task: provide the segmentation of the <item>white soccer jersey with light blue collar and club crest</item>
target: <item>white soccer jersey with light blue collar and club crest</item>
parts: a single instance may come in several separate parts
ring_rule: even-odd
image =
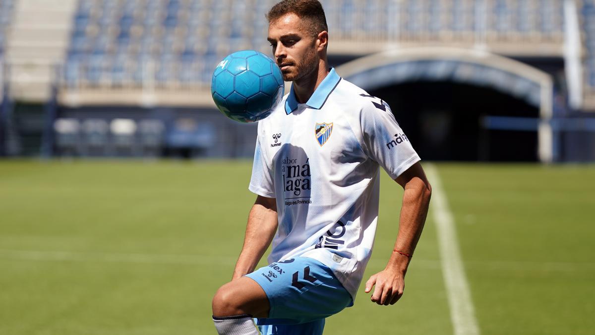
[[[249,186],[277,199],[268,262],[320,260],[355,300],[374,246],[378,166],[394,179],[418,161],[389,106],[334,69],[305,104],[292,87],[258,124]]]

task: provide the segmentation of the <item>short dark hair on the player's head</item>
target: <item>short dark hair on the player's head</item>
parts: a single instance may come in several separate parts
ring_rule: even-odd
[[[267,20],[271,23],[289,13],[311,21],[309,30],[314,36],[320,32],[328,31],[327,17],[318,0],[283,0],[268,11]]]

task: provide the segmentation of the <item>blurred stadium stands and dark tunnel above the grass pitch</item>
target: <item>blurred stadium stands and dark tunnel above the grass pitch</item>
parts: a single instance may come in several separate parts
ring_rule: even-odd
[[[214,67],[274,1],[1,0],[0,155],[250,157]],[[324,0],[337,71],[428,160],[595,160],[591,0]]]

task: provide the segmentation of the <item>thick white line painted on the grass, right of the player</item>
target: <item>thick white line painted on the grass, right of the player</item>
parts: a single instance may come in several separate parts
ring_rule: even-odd
[[[432,185],[431,212],[436,222],[442,274],[455,335],[479,335],[469,284],[456,238],[455,221],[442,190],[440,176],[433,165],[425,165]]]

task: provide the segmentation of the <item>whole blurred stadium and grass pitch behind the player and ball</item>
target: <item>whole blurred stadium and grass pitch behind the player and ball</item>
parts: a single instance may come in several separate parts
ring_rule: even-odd
[[[256,125],[209,86],[271,54],[274,2],[0,0],[0,334],[215,332]],[[595,1],[321,2],[331,66],[390,104],[434,189],[403,298],[360,291],[325,334],[593,334]],[[364,280],[398,231],[381,178]]]

